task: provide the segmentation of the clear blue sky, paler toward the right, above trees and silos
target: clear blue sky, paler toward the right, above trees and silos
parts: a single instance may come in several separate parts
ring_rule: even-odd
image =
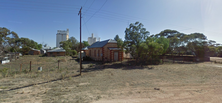
[[[0,27],[19,37],[56,46],[57,30],[82,40],[93,33],[102,40],[124,40],[130,23],[139,21],[150,34],[165,29],[203,33],[222,43],[222,0],[0,0]]]

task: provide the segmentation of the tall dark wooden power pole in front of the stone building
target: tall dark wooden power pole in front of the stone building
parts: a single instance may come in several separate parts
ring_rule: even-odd
[[[80,10],[79,10],[79,13],[78,13],[78,15],[80,15],[80,57],[79,57],[79,64],[80,64],[80,75],[82,74],[82,52],[81,52],[81,49],[82,49],[82,42],[81,42],[81,19],[82,19],[82,17],[81,17],[81,15],[82,15],[82,13],[81,13],[81,10],[82,10],[82,7],[80,8]]]

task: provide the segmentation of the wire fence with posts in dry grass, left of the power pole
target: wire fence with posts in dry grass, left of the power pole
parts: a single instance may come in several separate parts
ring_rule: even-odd
[[[19,77],[37,77],[42,76],[60,78],[68,75],[78,74],[79,64],[75,60],[59,58],[46,58],[49,60],[36,59],[31,61],[17,60],[0,66],[0,77],[12,77],[16,74]],[[57,59],[57,60],[55,60]],[[48,79],[48,78],[46,78]]]

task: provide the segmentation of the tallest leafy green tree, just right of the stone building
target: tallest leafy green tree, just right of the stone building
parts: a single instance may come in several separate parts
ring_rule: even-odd
[[[125,30],[126,51],[138,59],[140,52],[136,52],[136,50],[138,50],[139,45],[148,38],[149,34],[149,31],[143,28],[142,23],[131,23],[129,28]]]

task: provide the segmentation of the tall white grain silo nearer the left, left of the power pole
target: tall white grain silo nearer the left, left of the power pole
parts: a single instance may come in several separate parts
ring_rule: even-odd
[[[56,34],[56,47],[60,47],[61,41],[66,41],[69,39],[69,29],[67,30],[57,30]]]

